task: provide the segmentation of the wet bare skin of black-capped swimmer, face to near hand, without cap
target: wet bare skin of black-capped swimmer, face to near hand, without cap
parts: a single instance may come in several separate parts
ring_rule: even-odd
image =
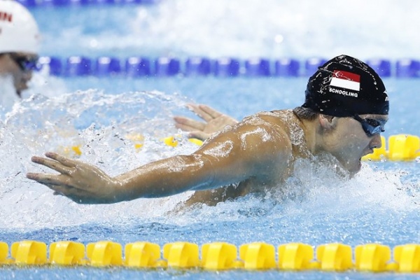
[[[290,176],[297,158],[318,153],[330,153],[354,174],[360,169],[360,158],[379,146],[379,134],[367,137],[353,118],[319,115],[314,120],[300,120],[292,111],[284,110],[245,118],[212,136],[191,155],[151,162],[116,177],[78,160],[46,153],[46,158],[35,156],[31,160],[59,174],[28,173],[27,178],[77,203],[114,203],[197,190],[187,203],[214,204],[221,195],[226,199],[258,192],[262,187],[278,187]],[[221,189],[233,183],[239,186]]]

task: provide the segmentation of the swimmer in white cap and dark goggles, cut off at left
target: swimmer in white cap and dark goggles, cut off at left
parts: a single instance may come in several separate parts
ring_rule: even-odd
[[[0,76],[12,78],[18,97],[36,69],[39,37],[27,8],[18,1],[0,0]]]

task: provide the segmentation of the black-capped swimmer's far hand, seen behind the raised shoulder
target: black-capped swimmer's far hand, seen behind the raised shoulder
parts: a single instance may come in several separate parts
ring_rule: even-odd
[[[186,117],[175,116],[175,126],[186,132],[190,132],[190,137],[205,140],[223,130],[227,125],[238,123],[235,118],[220,113],[207,105],[188,104],[188,109],[197,114],[204,120],[204,123]]]

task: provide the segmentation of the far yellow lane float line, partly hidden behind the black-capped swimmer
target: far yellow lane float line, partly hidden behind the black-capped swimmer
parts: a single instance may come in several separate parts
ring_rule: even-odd
[[[127,139],[134,143],[136,151],[144,146],[144,136],[141,134],[130,134],[127,135]],[[179,144],[179,137],[166,137],[160,139],[167,146],[176,147]],[[199,139],[190,138],[188,139],[193,144],[201,146],[203,141]],[[382,146],[381,148],[375,148],[373,153],[365,155],[362,160],[391,160],[391,161],[409,161],[415,160],[420,157],[420,138],[414,135],[398,134],[392,135],[388,138],[388,150],[386,149],[386,139],[381,136]],[[64,155],[73,156],[75,158],[82,155],[82,149],[80,145],[68,146],[59,148]]]

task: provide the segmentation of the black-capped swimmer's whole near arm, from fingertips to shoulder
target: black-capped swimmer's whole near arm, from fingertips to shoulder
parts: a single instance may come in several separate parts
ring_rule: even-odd
[[[186,190],[219,188],[251,177],[264,180],[279,172],[291,151],[290,145],[281,144],[284,137],[269,130],[272,128],[262,125],[240,125],[191,155],[151,162],[116,177],[78,160],[46,153],[46,158],[31,160],[59,174],[28,173],[27,178],[83,204],[165,197]]]

